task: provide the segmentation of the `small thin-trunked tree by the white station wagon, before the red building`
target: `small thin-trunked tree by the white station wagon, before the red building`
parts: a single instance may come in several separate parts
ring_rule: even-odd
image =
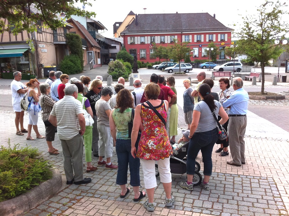
[[[178,42],[175,40],[173,45],[169,45],[168,49],[170,51],[170,57],[181,64],[181,60],[185,59],[187,55],[191,56],[191,49],[188,47],[189,42]],[[179,67],[179,72],[181,72],[181,67]]]

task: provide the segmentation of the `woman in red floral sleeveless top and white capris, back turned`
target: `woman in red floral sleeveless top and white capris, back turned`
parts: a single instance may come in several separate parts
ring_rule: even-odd
[[[159,100],[160,86],[149,83],[144,88],[145,98],[156,109],[160,115],[166,119],[166,109],[168,101]],[[136,142],[138,130],[142,124],[142,134],[138,144],[136,154]],[[172,176],[170,169],[170,156],[173,154],[168,134],[162,120],[150,108],[147,102],[136,106],[134,126],[131,133],[131,154],[133,157],[140,158],[144,175],[144,186],[147,190],[148,200],[144,202],[144,207],[148,211],[154,211],[153,195],[157,186],[155,178],[155,160],[158,163],[160,181],[166,193],[166,206],[172,206],[175,198],[171,195]]]

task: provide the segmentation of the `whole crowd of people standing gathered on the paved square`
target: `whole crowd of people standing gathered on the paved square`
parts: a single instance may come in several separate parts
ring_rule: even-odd
[[[180,186],[193,190],[192,179],[195,171],[195,159],[201,150],[204,163],[204,179],[201,183],[209,190],[209,178],[212,174],[212,149],[215,143],[221,144],[216,151],[220,156],[228,155],[230,143],[233,160],[229,165],[245,164],[244,133],[247,125],[248,94],[242,88],[241,78],[234,78],[234,93],[228,90],[229,80],[221,78],[219,94],[211,92],[214,85],[212,79],[206,79],[205,72],[197,75],[199,83],[192,89],[190,80],[184,80],[184,117],[188,129],[183,133],[189,141],[187,153],[187,181]],[[126,197],[130,192],[127,187],[128,167],[130,170],[130,185],[134,191],[134,201],[139,201],[146,195],[144,207],[154,211],[154,189],[157,186],[155,178],[155,161],[158,163],[160,180],[166,193],[166,206],[172,206],[175,198],[171,194],[170,156],[173,154],[171,143],[175,143],[178,123],[177,91],[175,78],[152,74],[150,83],[142,88],[141,80],[134,80],[134,91],[124,87],[124,79],[120,77],[114,92],[110,87],[102,86],[102,77],[90,82],[90,77],[81,76],[80,80],[61,71],[51,71],[45,83],[32,79],[28,88],[20,82],[21,73],[14,73],[11,83],[13,110],[16,113],[16,134],[28,132],[31,136],[32,127],[36,138],[46,138],[48,152],[59,154],[52,145],[55,131],[61,141],[64,171],[67,184],[86,184],[91,178],[83,176],[83,145],[85,149],[86,172],[97,170],[92,166],[92,155],[98,157],[97,166],[105,169],[118,169],[116,184],[120,185],[120,197]],[[34,90],[38,89],[38,92]],[[23,127],[24,111],[20,100],[27,93],[30,105],[28,111],[28,130]],[[30,103],[31,104],[31,103]],[[230,108],[230,109],[229,109]],[[42,109],[42,120],[45,124],[45,136],[37,129],[38,112]],[[83,110],[92,117],[94,123],[87,126]],[[217,122],[212,114],[218,116],[218,121],[228,129],[229,139],[218,140]],[[229,115],[229,116],[228,116]],[[22,117],[22,119],[21,119]],[[230,117],[230,118],[229,118]],[[20,129],[19,129],[20,123]],[[131,124],[133,126],[131,126]],[[31,125],[31,126],[30,126]],[[129,131],[131,128],[131,132]],[[170,139],[171,138],[171,139]],[[118,165],[111,162],[115,146]],[[104,160],[106,158],[106,161]],[[140,164],[142,164],[143,180],[146,191],[140,191]],[[74,173],[74,175],[73,175]]]

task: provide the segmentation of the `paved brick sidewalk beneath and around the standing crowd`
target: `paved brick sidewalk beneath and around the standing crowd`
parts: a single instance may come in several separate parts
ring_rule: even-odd
[[[215,80],[216,81],[216,80]],[[179,135],[181,128],[186,128],[182,111],[182,94],[184,87],[177,81],[178,105],[179,105]],[[0,83],[1,84],[1,83]],[[216,83],[215,83],[216,84]],[[272,83],[271,83],[272,84]],[[126,83],[127,85],[127,83]],[[285,89],[285,88],[284,88]],[[285,90],[284,90],[285,91]],[[286,88],[288,91],[288,88]],[[0,92],[0,94],[3,94]],[[1,95],[2,97],[3,95]],[[34,209],[27,212],[26,216],[32,215],[288,215],[289,209],[289,132],[284,126],[278,127],[272,123],[276,121],[288,122],[289,100],[284,101],[250,101],[248,112],[248,124],[245,135],[246,142],[246,165],[233,167],[226,164],[231,156],[220,157],[214,151],[218,149],[215,145],[213,159],[213,174],[210,179],[210,191],[194,187],[194,191],[181,189],[179,182],[186,179],[186,174],[172,174],[172,193],[175,203],[172,207],[165,207],[165,193],[157,177],[158,186],[155,188],[155,202],[157,208],[153,213],[144,209],[142,203],[133,202],[133,192],[126,198],[120,198],[120,187],[115,185],[117,170],[105,170],[99,167],[97,171],[86,173],[84,176],[92,178],[92,182],[86,185],[67,186],[62,163],[62,149],[58,136],[55,136],[53,146],[59,149],[60,154],[51,156],[47,152],[45,140],[27,141],[25,136],[15,134],[14,117],[12,111],[0,111],[1,145],[8,146],[10,138],[12,145],[20,143],[20,146],[32,145],[43,151],[45,158],[60,170],[63,176],[63,187],[57,195],[43,202]],[[256,115],[254,106],[259,106],[259,115],[268,114],[264,118]],[[275,117],[272,107],[282,107],[280,113],[283,115]],[[253,112],[251,112],[253,111]],[[274,114],[272,114],[274,113]],[[271,115],[271,117],[270,117]],[[44,124],[39,114],[38,129],[40,134],[45,134]],[[269,119],[269,120],[268,120]],[[25,113],[24,124],[27,125],[28,116]],[[287,127],[287,126],[285,126]],[[32,135],[35,135],[32,132]],[[230,151],[230,150],[229,150]],[[97,158],[92,157],[92,165],[96,166]],[[83,161],[84,158],[83,158]],[[116,153],[112,162],[117,161]],[[197,157],[201,165],[203,163],[201,154]],[[141,186],[144,187],[142,169],[140,169]],[[144,190],[144,188],[140,188]]]

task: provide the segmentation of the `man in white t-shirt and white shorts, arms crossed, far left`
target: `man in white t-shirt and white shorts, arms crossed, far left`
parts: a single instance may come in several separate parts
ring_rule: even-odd
[[[12,91],[12,106],[13,111],[16,114],[15,117],[15,126],[16,126],[16,134],[23,136],[23,133],[27,133],[28,131],[23,127],[23,117],[24,117],[24,110],[21,109],[20,102],[21,99],[24,97],[24,94],[28,91],[28,88],[20,82],[22,78],[22,74],[19,71],[13,73],[14,80],[11,82],[11,91]],[[20,123],[20,130],[19,130],[19,123]]]

